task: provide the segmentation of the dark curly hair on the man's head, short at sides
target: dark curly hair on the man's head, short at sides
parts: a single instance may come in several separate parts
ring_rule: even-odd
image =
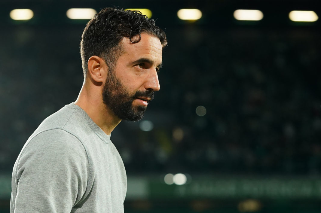
[[[122,38],[137,43],[143,32],[159,38],[163,48],[167,45],[165,32],[139,11],[104,8],[94,15],[86,25],[80,43],[84,77],[92,55],[103,58],[109,69],[114,70],[118,57],[123,53]]]

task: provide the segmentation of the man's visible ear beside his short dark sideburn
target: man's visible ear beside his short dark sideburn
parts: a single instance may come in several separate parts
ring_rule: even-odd
[[[88,59],[88,74],[91,76],[92,80],[96,82],[103,82],[106,80],[108,66],[105,61],[93,55]]]

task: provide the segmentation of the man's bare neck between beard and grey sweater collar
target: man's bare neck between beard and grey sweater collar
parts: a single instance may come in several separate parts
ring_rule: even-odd
[[[91,85],[84,81],[75,104],[81,107],[107,135],[110,135],[121,121],[103,103],[101,86]]]

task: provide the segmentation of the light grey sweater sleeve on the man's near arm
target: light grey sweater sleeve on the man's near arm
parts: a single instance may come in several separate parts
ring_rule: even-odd
[[[39,133],[16,165],[15,213],[71,212],[82,199],[89,174],[82,143],[61,129]]]

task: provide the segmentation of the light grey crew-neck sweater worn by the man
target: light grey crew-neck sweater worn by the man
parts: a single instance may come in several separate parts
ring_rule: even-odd
[[[10,212],[124,212],[126,189],[110,135],[71,103],[46,118],[22,148]]]

